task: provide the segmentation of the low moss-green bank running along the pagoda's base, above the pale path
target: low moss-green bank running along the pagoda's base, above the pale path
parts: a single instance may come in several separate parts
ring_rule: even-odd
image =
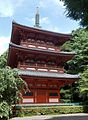
[[[83,106],[20,107],[19,109],[16,109],[17,116],[69,114],[83,112]]]

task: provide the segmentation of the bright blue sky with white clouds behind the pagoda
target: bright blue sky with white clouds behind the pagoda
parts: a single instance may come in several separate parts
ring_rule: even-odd
[[[60,0],[0,0],[0,55],[8,49],[12,21],[33,27],[36,7],[39,7],[40,26],[44,30],[71,33],[79,27],[77,21],[66,17]]]

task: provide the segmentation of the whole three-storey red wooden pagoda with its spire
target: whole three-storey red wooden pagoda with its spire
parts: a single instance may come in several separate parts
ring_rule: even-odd
[[[22,92],[21,104],[60,103],[60,88],[79,79],[64,72],[64,63],[75,53],[60,47],[70,38],[69,34],[40,29],[38,11],[35,27],[12,23],[7,64],[18,69],[29,88]]]

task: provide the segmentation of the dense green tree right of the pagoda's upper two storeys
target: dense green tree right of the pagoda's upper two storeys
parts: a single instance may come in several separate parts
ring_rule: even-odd
[[[76,52],[74,59],[67,62],[68,72],[83,73],[88,66],[88,31],[86,29],[73,31],[71,41],[66,42],[62,50]]]

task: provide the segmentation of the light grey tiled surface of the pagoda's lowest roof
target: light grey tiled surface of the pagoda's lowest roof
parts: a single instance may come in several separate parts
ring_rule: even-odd
[[[31,76],[31,77],[43,77],[43,78],[61,78],[61,79],[79,79],[79,75],[71,75],[66,73],[44,72],[44,71],[32,71],[32,70],[19,70],[19,75]]]

